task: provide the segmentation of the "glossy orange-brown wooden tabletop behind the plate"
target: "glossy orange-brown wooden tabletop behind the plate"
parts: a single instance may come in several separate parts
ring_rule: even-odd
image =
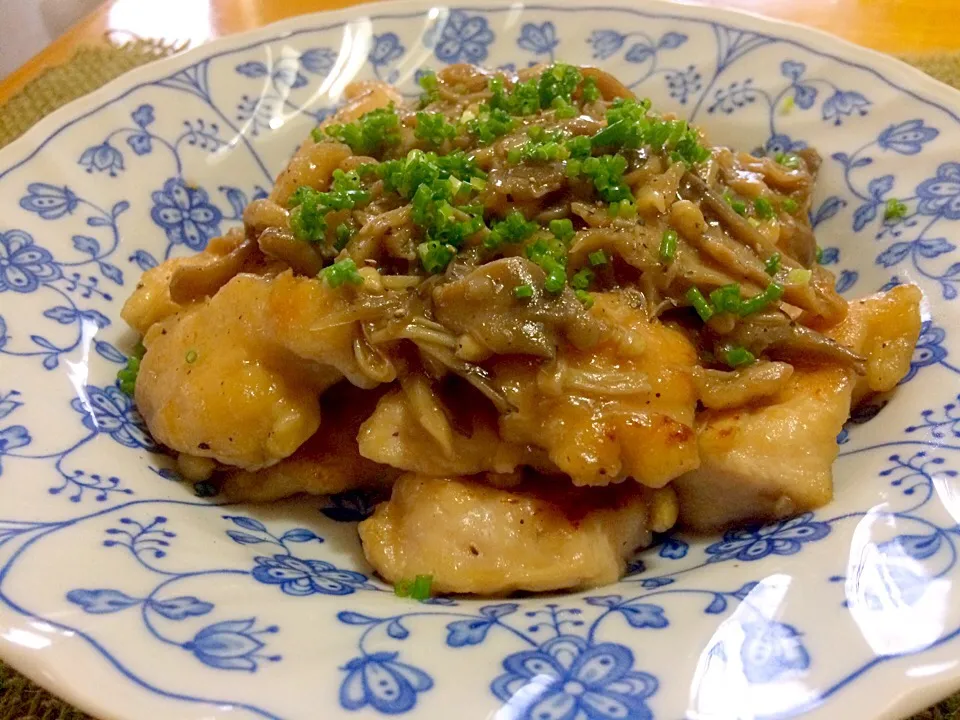
[[[199,45],[353,0],[108,0],[0,83],[0,102],[108,32]],[[960,51],[960,0],[704,0],[810,25],[888,53]]]

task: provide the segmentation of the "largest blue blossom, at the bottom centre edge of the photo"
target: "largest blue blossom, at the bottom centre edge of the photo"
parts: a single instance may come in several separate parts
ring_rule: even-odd
[[[517,720],[653,717],[646,699],[657,691],[657,680],[633,669],[633,653],[623,645],[590,645],[583,638],[560,635],[537,650],[511,655],[503,667],[507,672],[490,689],[504,702],[525,687],[536,688],[530,694],[535,699],[516,708],[512,717]]]

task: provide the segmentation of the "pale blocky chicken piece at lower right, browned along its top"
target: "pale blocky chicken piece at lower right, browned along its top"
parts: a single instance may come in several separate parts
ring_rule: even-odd
[[[841,368],[797,368],[767,404],[701,413],[700,467],[673,483],[681,523],[712,531],[829,502],[853,386]]]

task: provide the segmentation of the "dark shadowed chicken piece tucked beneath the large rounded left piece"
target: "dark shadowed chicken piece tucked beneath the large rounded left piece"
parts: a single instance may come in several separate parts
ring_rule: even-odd
[[[382,393],[340,383],[323,395],[323,423],[300,448],[276,465],[237,470],[224,477],[221,494],[236,502],[269,502],[308,493],[332,495],[357,488],[387,488],[400,471],[367,460],[357,448],[360,424]]]

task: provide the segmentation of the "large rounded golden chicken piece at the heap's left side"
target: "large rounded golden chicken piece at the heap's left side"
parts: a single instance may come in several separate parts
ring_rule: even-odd
[[[150,328],[136,401],[159,442],[258,469],[316,432],[319,393],[342,375],[309,367],[262,337],[272,283],[238,275],[213,298]]]

